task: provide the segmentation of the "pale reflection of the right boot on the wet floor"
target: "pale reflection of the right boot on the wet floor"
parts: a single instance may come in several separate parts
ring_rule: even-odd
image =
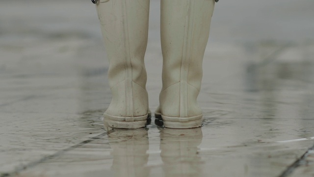
[[[161,159],[166,177],[199,177],[201,157],[198,146],[202,143],[202,129],[168,129],[160,131]]]

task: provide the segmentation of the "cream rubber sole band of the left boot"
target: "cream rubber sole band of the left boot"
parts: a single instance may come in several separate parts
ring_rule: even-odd
[[[135,129],[145,127],[150,124],[151,116],[147,114],[145,116],[138,117],[116,117],[108,114],[104,114],[105,127],[111,128],[126,128]]]

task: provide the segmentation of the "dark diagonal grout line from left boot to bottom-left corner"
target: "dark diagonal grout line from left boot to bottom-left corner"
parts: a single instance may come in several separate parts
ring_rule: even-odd
[[[47,160],[50,160],[50,159],[52,159],[54,157],[62,155],[65,152],[68,152],[68,151],[73,150],[75,148],[79,148],[79,147],[81,147],[81,146],[83,146],[85,144],[88,144],[88,143],[90,143],[90,142],[92,142],[94,140],[100,139],[101,137],[105,136],[106,134],[107,134],[107,132],[99,134],[97,136],[89,138],[88,140],[85,140],[85,141],[82,141],[82,142],[80,142],[80,143],[78,143],[76,145],[73,145],[73,146],[71,146],[69,148],[66,148],[66,149],[63,149],[63,150],[59,150],[59,151],[53,153],[52,155],[45,156],[45,157],[43,157],[43,158],[41,158],[39,160],[36,160],[36,161],[30,162],[30,163],[28,163],[26,165],[22,165],[20,167],[17,167],[16,170],[14,170],[13,172],[2,173],[2,174],[0,174],[0,177],[10,177],[10,176],[13,176],[13,175],[17,175],[17,174],[21,173],[22,171],[24,171],[26,169],[32,168],[32,167],[34,167],[34,166],[36,166],[36,165],[38,165],[40,163],[43,163],[43,162],[45,162]]]

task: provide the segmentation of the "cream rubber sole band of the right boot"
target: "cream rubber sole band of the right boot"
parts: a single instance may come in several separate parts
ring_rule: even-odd
[[[160,126],[160,120],[164,127],[167,128],[196,128],[201,127],[203,122],[203,115],[193,116],[189,118],[179,117],[167,117],[161,114],[155,113],[155,123]]]

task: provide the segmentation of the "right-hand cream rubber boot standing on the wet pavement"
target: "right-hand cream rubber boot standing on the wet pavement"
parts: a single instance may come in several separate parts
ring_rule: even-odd
[[[214,4],[214,0],[161,0],[162,90],[155,115],[165,127],[202,124],[196,99]]]

